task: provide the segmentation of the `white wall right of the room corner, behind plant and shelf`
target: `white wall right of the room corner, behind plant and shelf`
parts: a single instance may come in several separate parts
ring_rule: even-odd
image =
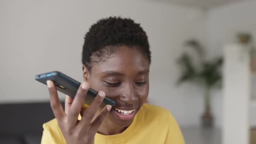
[[[251,31],[256,27],[256,1],[232,3],[208,11],[208,54],[209,58],[223,54],[223,45],[235,41],[239,31]],[[217,125],[222,125],[222,91],[213,92],[213,111]]]

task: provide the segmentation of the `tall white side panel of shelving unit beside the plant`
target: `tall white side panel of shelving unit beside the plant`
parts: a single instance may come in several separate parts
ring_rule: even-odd
[[[252,77],[245,49],[235,43],[224,47],[222,144],[249,144]]]

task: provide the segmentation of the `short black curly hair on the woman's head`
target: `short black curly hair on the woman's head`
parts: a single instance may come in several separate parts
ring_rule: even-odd
[[[140,24],[130,18],[108,17],[98,20],[85,34],[82,64],[90,71],[92,62],[107,59],[119,45],[138,46],[151,63],[148,36]],[[92,56],[97,56],[97,60]]]

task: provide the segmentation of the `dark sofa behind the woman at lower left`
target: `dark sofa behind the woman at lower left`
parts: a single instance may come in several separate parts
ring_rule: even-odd
[[[42,124],[53,118],[49,102],[0,104],[0,144],[40,144]]]

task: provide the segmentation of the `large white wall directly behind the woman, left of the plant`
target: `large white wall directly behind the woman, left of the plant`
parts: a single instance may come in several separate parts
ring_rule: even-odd
[[[190,38],[207,40],[202,11],[136,1],[0,1],[0,103],[48,101],[38,73],[59,70],[82,81],[81,52],[85,32],[107,16],[131,17],[148,33],[152,51],[149,102],[168,108],[181,125],[199,123],[202,92],[174,85],[175,60]]]

